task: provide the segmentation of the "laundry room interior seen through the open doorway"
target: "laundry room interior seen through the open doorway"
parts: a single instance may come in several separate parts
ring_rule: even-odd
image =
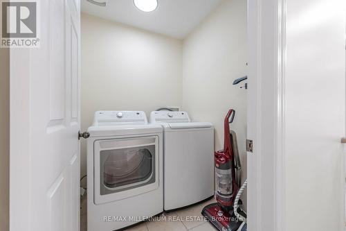
[[[81,10],[81,230],[222,230],[208,205],[225,199],[219,190],[233,207],[247,176],[247,1],[82,0]],[[215,176],[223,149],[232,160]],[[241,200],[246,216],[246,189]],[[237,219],[229,230],[246,230],[225,213]]]

